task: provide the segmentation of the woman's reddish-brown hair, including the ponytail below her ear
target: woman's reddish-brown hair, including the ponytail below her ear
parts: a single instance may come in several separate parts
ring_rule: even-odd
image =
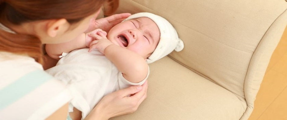
[[[0,0],[2,23],[21,25],[45,19],[66,19],[78,23],[92,15],[106,0]],[[0,51],[26,54],[42,63],[42,44],[33,35],[12,34],[0,30]]]

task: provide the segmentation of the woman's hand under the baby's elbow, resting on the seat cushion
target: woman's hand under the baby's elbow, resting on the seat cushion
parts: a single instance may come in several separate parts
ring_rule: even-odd
[[[106,95],[86,119],[108,120],[111,117],[133,113],[146,97],[147,81],[141,86],[131,86],[115,91]]]

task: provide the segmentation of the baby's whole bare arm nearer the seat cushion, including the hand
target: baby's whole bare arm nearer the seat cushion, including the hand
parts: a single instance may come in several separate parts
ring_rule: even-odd
[[[90,34],[95,38],[90,44],[90,49],[98,49],[115,64],[119,71],[123,73],[125,79],[138,83],[147,77],[148,64],[145,59],[137,53],[112,44],[101,32]]]

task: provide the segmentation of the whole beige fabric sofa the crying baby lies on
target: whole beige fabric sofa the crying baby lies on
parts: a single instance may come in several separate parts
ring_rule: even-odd
[[[111,120],[247,120],[286,8],[285,0],[120,0],[117,13],[169,20],[185,48],[150,64],[147,99]]]

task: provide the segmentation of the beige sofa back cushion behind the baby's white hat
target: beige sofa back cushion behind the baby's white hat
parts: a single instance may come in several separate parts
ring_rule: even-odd
[[[121,0],[117,13],[150,12],[169,20],[185,44],[169,57],[244,98],[253,52],[286,7],[284,0]]]

